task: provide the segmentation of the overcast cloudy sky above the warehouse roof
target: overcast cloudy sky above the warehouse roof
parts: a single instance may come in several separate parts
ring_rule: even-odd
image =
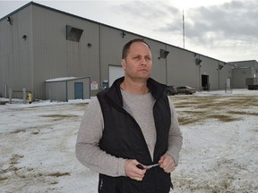
[[[0,18],[30,1],[0,1]],[[258,0],[34,1],[224,62],[258,61]]]

